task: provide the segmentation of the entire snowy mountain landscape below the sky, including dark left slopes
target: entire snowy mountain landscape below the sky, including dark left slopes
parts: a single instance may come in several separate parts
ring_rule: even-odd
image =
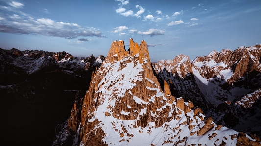
[[[151,63],[130,39],[106,58],[0,49],[0,64],[16,145],[261,146],[260,44]]]

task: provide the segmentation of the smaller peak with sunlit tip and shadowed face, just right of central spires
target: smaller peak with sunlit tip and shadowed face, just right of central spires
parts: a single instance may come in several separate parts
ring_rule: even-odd
[[[192,101],[196,106],[208,109],[210,103],[206,101],[196,84],[189,56],[180,54],[173,60],[161,60],[158,63],[153,63],[153,67],[161,86],[163,87],[162,84],[166,82],[172,95],[183,97],[186,101]]]

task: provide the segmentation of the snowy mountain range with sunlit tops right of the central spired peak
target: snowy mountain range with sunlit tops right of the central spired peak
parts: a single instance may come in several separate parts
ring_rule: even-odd
[[[160,81],[172,86],[173,95],[193,101],[215,123],[261,137],[260,58],[261,45],[256,45],[213,51],[191,62],[186,55],[178,55],[153,66]]]

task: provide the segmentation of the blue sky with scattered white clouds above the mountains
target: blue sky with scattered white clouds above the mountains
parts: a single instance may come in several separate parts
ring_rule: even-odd
[[[0,0],[0,48],[104,55],[115,40],[150,60],[261,44],[261,0]]]

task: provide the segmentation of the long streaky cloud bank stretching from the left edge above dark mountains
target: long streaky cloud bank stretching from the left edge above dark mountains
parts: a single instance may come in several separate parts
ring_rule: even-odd
[[[16,34],[33,34],[62,38],[77,38],[80,36],[103,37],[102,32],[93,27],[81,27],[76,23],[55,22],[48,18],[34,19],[19,15],[3,18],[0,32]]]

